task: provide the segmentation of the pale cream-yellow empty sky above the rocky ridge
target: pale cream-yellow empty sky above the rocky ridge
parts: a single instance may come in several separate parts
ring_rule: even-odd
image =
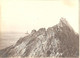
[[[79,33],[78,0],[2,0],[1,31],[31,32],[52,27],[66,18]]]

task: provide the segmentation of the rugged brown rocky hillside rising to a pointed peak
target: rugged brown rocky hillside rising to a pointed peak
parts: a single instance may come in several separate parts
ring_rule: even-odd
[[[49,27],[32,30],[31,34],[20,38],[15,45],[0,50],[1,57],[78,57],[79,35],[61,18]]]

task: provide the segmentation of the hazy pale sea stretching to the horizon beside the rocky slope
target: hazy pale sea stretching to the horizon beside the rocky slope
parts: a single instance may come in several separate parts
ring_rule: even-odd
[[[3,32],[0,34],[0,49],[15,44],[19,38],[26,36],[22,32]]]

